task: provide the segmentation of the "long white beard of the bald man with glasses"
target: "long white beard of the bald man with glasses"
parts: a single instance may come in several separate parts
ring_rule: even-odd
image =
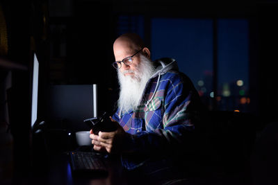
[[[142,93],[149,78],[154,73],[154,64],[144,55],[140,55],[141,62],[135,71],[126,70],[123,73],[117,71],[120,83],[120,98],[117,105],[122,112],[135,110],[139,105]],[[124,73],[134,73],[134,76],[124,76]]]

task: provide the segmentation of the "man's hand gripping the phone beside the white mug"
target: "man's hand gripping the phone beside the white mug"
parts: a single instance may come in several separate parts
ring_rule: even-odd
[[[117,124],[117,130],[114,132],[99,132],[99,135],[93,134],[92,130],[90,130],[90,138],[92,139],[94,150],[106,150],[108,153],[120,154],[122,152],[122,141],[126,132],[113,118],[111,118],[111,121]]]

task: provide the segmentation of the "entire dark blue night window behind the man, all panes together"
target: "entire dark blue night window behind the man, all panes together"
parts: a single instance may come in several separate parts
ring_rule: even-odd
[[[125,30],[143,38],[143,33],[147,33],[144,29],[150,28],[150,41],[147,42],[151,43],[152,60],[164,57],[177,60],[179,70],[193,81],[208,109],[249,111],[247,19],[216,19],[214,28],[213,19],[153,17],[148,20],[150,27],[144,27],[142,16],[119,17],[119,22],[123,20],[129,20],[129,24],[124,25],[130,25],[130,28]],[[126,32],[123,28],[118,28],[119,35]],[[213,43],[215,40],[217,43]],[[217,51],[217,58],[213,58],[213,49]],[[217,82],[215,92],[213,82]]]

